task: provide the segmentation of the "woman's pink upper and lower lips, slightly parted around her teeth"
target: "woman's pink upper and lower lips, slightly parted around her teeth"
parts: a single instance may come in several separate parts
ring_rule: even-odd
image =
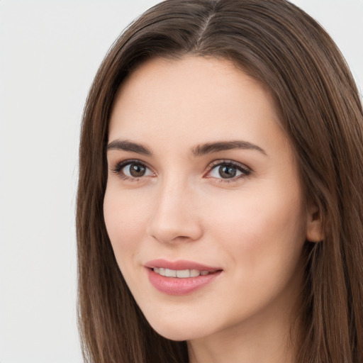
[[[211,284],[223,270],[218,267],[206,266],[197,262],[186,260],[167,261],[165,259],[154,259],[147,262],[145,265],[147,270],[147,277],[149,278],[152,286],[158,291],[167,295],[186,295],[194,291],[202,289],[203,287]],[[207,275],[199,275],[198,277],[187,277],[180,279],[178,277],[164,277],[155,273],[152,269],[154,267],[161,267],[164,269],[198,269],[199,271],[210,272]]]

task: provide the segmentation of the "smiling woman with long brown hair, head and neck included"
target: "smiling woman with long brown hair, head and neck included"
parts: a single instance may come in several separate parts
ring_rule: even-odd
[[[363,362],[363,123],[333,41],[283,0],[168,0],[84,110],[89,362]]]

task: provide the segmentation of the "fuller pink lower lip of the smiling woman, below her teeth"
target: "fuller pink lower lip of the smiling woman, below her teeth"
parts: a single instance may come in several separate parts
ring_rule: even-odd
[[[202,287],[211,284],[211,282],[220,275],[221,271],[213,272],[208,275],[199,275],[198,277],[164,277],[157,274],[152,269],[147,269],[149,281],[155,289],[168,295],[186,295]]]

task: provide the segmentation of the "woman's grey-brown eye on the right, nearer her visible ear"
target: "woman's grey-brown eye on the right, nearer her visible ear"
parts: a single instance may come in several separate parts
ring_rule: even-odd
[[[215,162],[208,169],[206,177],[220,179],[220,181],[235,181],[251,174],[251,170],[243,164],[231,160]]]

